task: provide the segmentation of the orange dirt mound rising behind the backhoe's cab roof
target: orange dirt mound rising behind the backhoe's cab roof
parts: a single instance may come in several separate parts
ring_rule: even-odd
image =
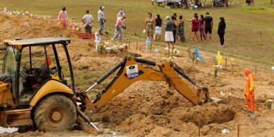
[[[0,42],[9,39],[34,38],[42,36],[63,36],[76,38],[69,30],[64,30],[55,24],[40,21],[38,18],[22,17],[21,15],[0,16],[1,37]]]

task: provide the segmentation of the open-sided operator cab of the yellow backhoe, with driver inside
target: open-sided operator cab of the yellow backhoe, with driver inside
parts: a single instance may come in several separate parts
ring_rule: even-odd
[[[2,75],[11,79],[12,98],[16,106],[29,105],[36,92],[49,80],[61,82],[75,90],[71,60],[67,49],[70,42],[69,38],[54,37],[5,40],[7,48]],[[67,58],[62,58],[60,62],[58,52],[66,53]],[[49,64],[49,58],[51,64]],[[41,69],[45,62],[47,62],[45,69]],[[62,66],[66,67],[62,68]],[[49,74],[51,69],[56,73]],[[66,74],[71,81],[67,82],[63,72],[70,72]]]

